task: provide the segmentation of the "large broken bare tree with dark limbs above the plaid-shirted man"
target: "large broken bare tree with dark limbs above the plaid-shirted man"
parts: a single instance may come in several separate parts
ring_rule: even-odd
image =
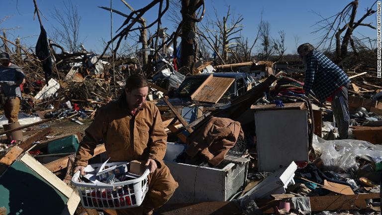
[[[368,7],[365,14],[358,21],[355,20],[358,0],[348,3],[340,12],[328,18],[324,18],[318,14],[322,17],[322,20],[316,22],[315,25],[318,26],[318,29],[313,31],[313,33],[323,32],[323,36],[317,47],[323,45],[327,51],[331,51],[333,42],[335,42],[336,61],[341,61],[347,56],[349,46],[354,54],[357,54],[353,36],[354,30],[358,26],[366,26],[376,29],[372,23],[363,23],[365,18],[376,12],[376,10],[373,9],[376,3],[377,1],[375,1],[370,8]]]

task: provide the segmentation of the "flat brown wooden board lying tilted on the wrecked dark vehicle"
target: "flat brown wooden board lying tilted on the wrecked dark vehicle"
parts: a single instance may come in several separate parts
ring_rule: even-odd
[[[216,104],[234,81],[234,78],[213,77],[210,75],[191,95],[191,100]]]

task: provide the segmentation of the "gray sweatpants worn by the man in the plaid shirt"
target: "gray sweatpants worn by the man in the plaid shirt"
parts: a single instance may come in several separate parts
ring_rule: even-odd
[[[336,119],[340,139],[347,139],[350,121],[348,86],[343,86],[341,91],[334,94],[332,109],[334,118]]]

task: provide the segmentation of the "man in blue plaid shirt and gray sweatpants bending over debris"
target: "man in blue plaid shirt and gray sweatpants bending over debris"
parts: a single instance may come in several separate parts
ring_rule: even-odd
[[[321,103],[325,101],[332,103],[339,139],[347,139],[350,121],[348,105],[350,79],[340,67],[315,50],[311,44],[300,45],[297,52],[303,65],[306,66],[303,86],[305,95],[313,91]]]

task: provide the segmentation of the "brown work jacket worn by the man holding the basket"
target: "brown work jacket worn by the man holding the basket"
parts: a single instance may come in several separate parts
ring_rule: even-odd
[[[76,154],[76,166],[87,166],[101,139],[110,161],[156,160],[158,167],[166,153],[167,134],[158,108],[145,102],[135,115],[123,97],[99,108]]]

